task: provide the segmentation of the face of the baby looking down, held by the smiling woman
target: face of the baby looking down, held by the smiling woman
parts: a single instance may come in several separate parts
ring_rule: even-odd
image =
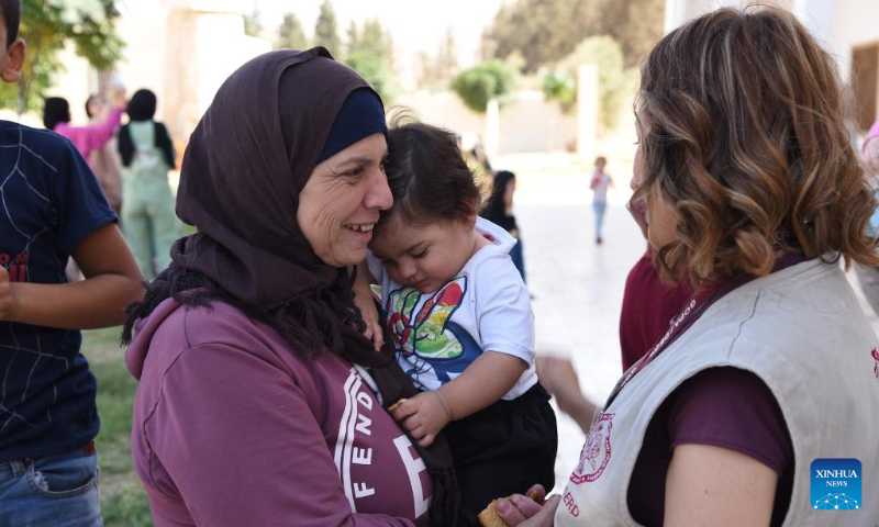
[[[455,278],[477,248],[474,225],[461,221],[408,223],[394,214],[382,220],[369,249],[390,277],[423,293]]]

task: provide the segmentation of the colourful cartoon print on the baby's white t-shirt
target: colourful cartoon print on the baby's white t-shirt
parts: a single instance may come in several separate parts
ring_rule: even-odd
[[[446,282],[435,293],[421,293],[403,287],[388,295],[385,306],[387,325],[397,352],[409,365],[407,374],[419,388],[436,378],[445,383],[449,373],[460,373],[482,352],[467,330],[452,322],[467,293],[467,277]],[[422,296],[431,298],[415,313]]]

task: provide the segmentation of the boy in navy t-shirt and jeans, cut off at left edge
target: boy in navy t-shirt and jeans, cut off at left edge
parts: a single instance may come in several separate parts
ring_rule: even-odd
[[[0,1],[0,78],[25,57]],[[143,293],[116,215],[70,141],[0,121],[0,525],[101,525],[97,382],[80,329],[120,324]],[[73,255],[86,279],[66,283]]]

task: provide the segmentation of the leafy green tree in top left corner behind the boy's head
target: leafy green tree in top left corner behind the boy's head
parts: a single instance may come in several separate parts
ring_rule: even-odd
[[[43,96],[64,70],[58,54],[68,42],[99,70],[112,68],[124,46],[115,32],[114,0],[22,0],[19,36],[27,43],[21,79],[2,83],[0,106],[40,111]]]

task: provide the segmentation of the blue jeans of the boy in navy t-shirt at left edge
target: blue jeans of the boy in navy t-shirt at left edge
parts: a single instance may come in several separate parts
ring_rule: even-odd
[[[0,527],[100,525],[93,445],[0,463]]]

